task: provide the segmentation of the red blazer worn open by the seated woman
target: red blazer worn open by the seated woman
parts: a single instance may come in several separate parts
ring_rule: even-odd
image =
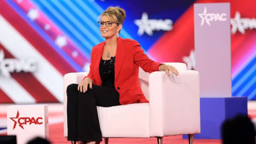
[[[104,50],[105,41],[94,46],[91,51],[91,65],[88,76],[94,85],[101,85],[99,63]],[[117,38],[115,56],[115,89],[120,94],[120,104],[148,103],[139,84],[139,67],[145,72],[159,71],[162,63],[155,62],[144,54],[140,44],[131,39]],[[85,79],[85,77],[83,78]]]

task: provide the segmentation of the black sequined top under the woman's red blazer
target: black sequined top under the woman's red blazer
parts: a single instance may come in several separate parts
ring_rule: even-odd
[[[101,76],[102,86],[115,88],[115,56],[111,56],[109,60],[104,60],[101,57],[99,74]]]

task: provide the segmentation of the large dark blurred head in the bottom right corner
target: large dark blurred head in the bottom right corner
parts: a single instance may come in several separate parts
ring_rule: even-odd
[[[221,126],[222,144],[255,144],[254,125],[247,115],[237,115]]]

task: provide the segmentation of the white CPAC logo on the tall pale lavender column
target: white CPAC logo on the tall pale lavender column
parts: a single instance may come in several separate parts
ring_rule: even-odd
[[[203,13],[198,13],[198,16],[202,19],[201,26],[203,26],[204,22],[211,26],[210,21],[226,21],[226,13],[207,13],[206,7],[203,10]]]

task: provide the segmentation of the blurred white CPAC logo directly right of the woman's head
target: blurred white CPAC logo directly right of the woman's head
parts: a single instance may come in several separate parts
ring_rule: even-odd
[[[173,21],[171,19],[148,19],[147,13],[142,13],[141,19],[136,19],[134,23],[139,27],[138,35],[143,35],[144,32],[148,35],[153,35],[153,31],[173,29]]]

